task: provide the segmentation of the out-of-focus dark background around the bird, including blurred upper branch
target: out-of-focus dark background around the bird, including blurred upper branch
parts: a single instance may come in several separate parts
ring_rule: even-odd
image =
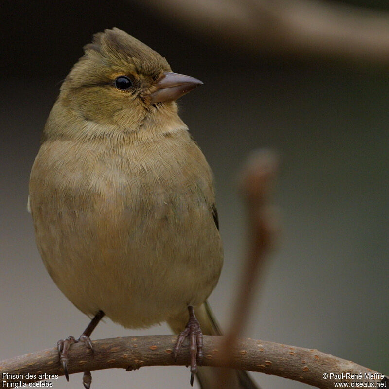
[[[316,348],[389,374],[388,1],[1,2],[0,360],[79,336],[26,211],[29,173],[61,81],[93,33],[119,27],[204,86],[181,117],[217,187],[225,265],[210,297],[226,327],[245,248],[236,190],[250,150],[282,156],[282,235],[245,336]],[[167,334],[101,323],[92,339]],[[189,388],[185,367],[92,372],[92,388]],[[253,373],[266,388],[307,388]],[[82,374],[54,382],[82,388]],[[195,384],[197,385],[197,384]]]

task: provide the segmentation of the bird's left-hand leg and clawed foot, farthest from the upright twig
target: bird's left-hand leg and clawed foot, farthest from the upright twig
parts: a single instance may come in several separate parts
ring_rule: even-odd
[[[69,336],[66,339],[58,340],[57,347],[58,347],[59,361],[61,362],[61,365],[64,369],[65,377],[67,381],[69,381],[68,352],[71,344],[83,342],[86,344],[88,349],[90,349],[93,352],[93,346],[89,336],[92,333],[92,331],[96,328],[98,322],[103,318],[104,315],[105,314],[103,311],[97,312],[95,317],[92,318],[92,320],[88,324],[88,327],[85,329],[85,331],[81,334],[81,336],[77,340],[74,338],[74,336]],[[89,389],[91,382],[92,382],[92,377],[90,375],[90,371],[85,371],[83,376],[84,387]]]

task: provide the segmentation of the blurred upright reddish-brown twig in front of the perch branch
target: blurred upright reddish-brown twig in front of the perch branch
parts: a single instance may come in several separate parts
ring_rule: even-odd
[[[234,347],[247,323],[254,291],[258,291],[258,278],[263,274],[267,253],[276,240],[278,223],[271,204],[271,195],[277,178],[278,164],[278,158],[273,151],[254,151],[248,156],[241,173],[240,191],[245,200],[248,219],[248,252],[221,355],[225,358],[226,365],[231,362],[230,349]],[[228,369],[220,371],[218,388],[227,387],[230,374],[232,371]]]

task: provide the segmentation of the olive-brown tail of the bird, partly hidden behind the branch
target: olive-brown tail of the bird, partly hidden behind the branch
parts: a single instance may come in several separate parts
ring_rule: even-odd
[[[198,319],[201,330],[204,335],[222,335],[220,326],[217,323],[208,301],[195,308],[196,318]],[[182,331],[188,322],[189,315],[179,315],[170,318],[167,323],[172,330],[178,334]],[[199,366],[197,372],[197,379],[200,383],[201,389],[216,389],[217,385],[217,368],[209,366]],[[236,374],[231,374],[231,382],[228,388],[223,389],[259,389],[246,371],[236,370]]]

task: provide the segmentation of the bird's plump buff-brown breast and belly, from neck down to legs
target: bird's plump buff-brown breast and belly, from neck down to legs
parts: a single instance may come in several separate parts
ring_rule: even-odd
[[[53,280],[83,312],[147,326],[202,303],[216,284],[212,174],[181,138],[42,144],[30,178],[36,240]],[[123,306],[132,313],[123,316]]]

